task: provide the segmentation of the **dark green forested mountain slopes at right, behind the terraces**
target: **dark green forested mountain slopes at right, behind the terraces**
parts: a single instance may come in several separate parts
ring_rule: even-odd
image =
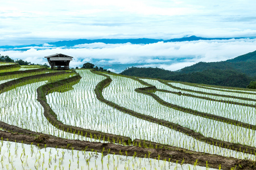
[[[256,79],[256,51],[221,62],[199,62],[179,71],[131,67],[121,74],[181,82],[246,87]]]

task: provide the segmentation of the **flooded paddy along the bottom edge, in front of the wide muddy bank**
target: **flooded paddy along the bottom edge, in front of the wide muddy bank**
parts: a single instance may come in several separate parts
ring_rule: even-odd
[[[39,148],[15,142],[0,142],[1,169],[208,169],[189,164],[137,158],[133,156],[102,155],[89,151],[62,148]],[[212,169],[212,168],[209,168]]]

